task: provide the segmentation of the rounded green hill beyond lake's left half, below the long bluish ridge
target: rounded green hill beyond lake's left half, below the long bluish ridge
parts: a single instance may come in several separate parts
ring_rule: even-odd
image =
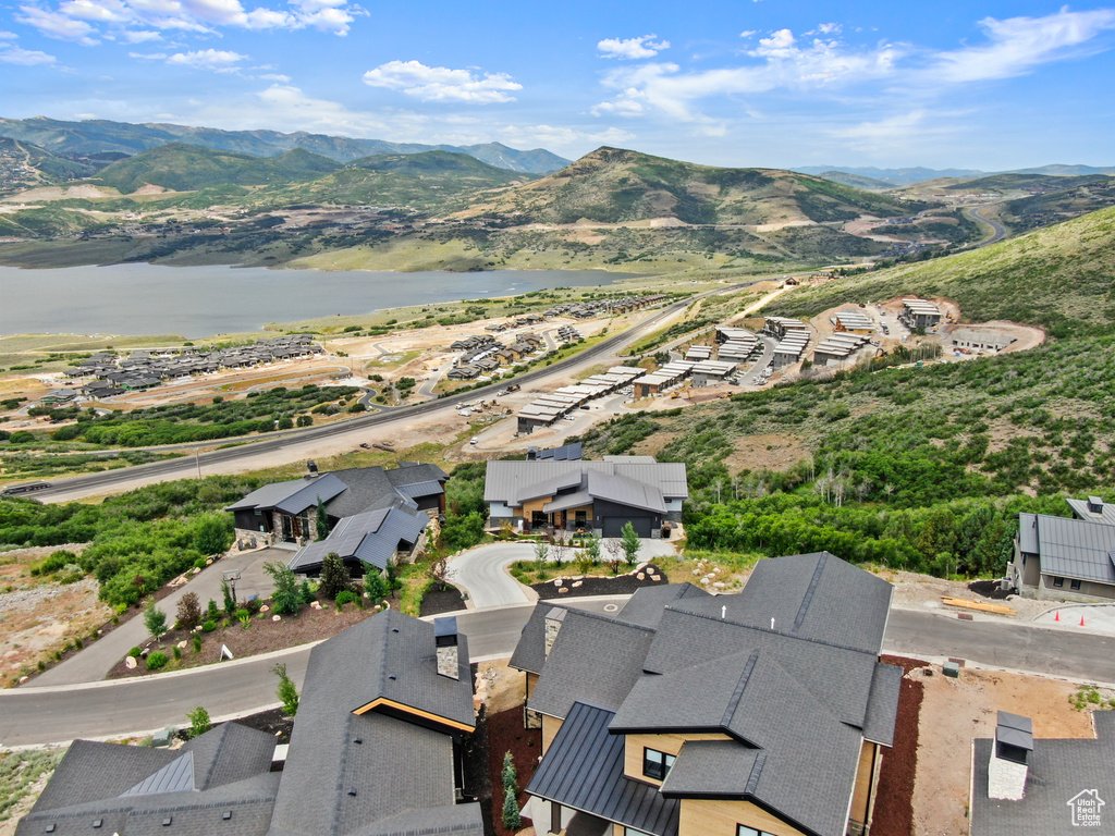
[[[254,186],[320,177],[341,165],[295,149],[274,157],[211,150],[173,143],[122,159],[90,182],[130,194],[145,185],[192,192],[221,185]]]

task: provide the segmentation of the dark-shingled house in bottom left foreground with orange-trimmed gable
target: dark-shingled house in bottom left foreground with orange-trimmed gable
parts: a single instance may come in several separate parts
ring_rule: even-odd
[[[389,610],[311,651],[281,771],[275,738],[235,722],[173,751],[78,740],[17,834],[483,836],[460,803],[474,729],[456,620]]]

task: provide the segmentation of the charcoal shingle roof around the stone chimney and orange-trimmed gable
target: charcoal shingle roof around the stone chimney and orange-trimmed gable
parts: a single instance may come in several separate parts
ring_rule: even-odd
[[[387,833],[367,828],[395,816],[406,833],[407,810],[453,805],[450,727],[474,723],[468,645],[459,636],[459,679],[440,677],[434,632],[388,610],[313,649],[272,836]],[[380,701],[390,704],[353,713]],[[407,709],[444,721],[416,725]],[[471,833],[475,810],[454,810],[448,818]]]

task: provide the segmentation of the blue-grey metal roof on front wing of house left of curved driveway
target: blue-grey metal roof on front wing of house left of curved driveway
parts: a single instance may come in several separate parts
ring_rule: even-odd
[[[378,568],[406,543],[413,546],[429,525],[429,516],[409,508],[377,508],[341,519],[329,536],[300,548],[289,565],[295,572],[317,572],[330,552],[343,560],[366,561]]]

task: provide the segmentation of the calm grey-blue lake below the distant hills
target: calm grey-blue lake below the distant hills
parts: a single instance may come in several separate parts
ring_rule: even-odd
[[[359,315],[456,299],[611,284],[599,270],[377,273],[156,264],[21,270],[0,266],[0,334],[258,331],[268,322]]]

